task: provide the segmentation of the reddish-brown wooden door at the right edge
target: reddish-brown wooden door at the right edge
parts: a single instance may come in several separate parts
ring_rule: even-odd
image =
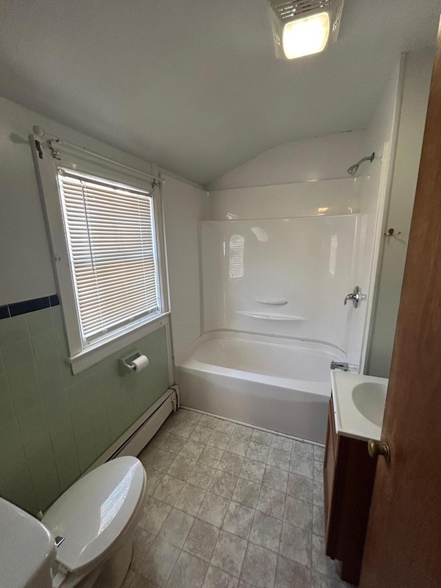
[[[441,587],[441,27],[361,588]]]

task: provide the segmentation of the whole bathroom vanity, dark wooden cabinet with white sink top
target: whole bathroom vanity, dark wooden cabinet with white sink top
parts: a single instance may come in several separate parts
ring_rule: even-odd
[[[331,374],[323,483],[327,556],[342,562],[342,580],[358,585],[376,460],[367,441],[380,440],[387,379]]]

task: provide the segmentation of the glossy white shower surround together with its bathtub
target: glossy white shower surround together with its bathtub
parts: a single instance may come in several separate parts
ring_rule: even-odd
[[[183,405],[323,443],[329,364],[348,361],[353,312],[365,314],[343,305],[360,277],[363,183],[210,194],[213,220],[200,223],[205,334],[176,357]]]

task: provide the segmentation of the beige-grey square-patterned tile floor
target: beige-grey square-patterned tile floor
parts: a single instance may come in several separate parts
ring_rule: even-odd
[[[349,586],[325,556],[321,447],[181,409],[139,458],[123,588]]]

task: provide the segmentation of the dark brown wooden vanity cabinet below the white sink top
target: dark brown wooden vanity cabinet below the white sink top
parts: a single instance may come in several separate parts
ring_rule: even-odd
[[[375,470],[366,441],[336,434],[331,398],[323,464],[326,554],[342,562],[342,580],[353,585],[360,580]]]

